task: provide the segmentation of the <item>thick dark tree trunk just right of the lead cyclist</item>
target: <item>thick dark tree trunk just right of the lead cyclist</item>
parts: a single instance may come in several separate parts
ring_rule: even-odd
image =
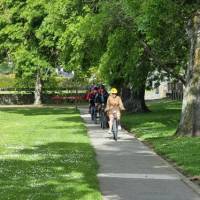
[[[124,106],[128,112],[149,112],[145,103],[145,85],[137,91],[123,87],[121,93]]]

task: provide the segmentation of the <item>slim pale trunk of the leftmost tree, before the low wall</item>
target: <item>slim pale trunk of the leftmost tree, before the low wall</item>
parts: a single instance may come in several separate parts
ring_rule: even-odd
[[[41,81],[41,77],[40,77],[40,73],[39,72],[37,72],[34,95],[35,95],[34,104],[35,105],[41,105],[41,103],[42,103],[42,101],[41,101],[41,96],[42,96],[42,81]]]

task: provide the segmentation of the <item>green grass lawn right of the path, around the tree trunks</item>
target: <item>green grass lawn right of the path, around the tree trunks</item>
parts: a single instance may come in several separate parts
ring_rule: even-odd
[[[175,137],[181,103],[162,100],[149,103],[152,112],[125,114],[123,125],[137,137],[148,142],[188,176],[200,175],[200,138]]]

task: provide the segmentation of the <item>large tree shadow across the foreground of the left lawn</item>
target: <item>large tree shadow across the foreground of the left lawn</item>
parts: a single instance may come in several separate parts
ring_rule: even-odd
[[[1,199],[85,199],[98,192],[93,158],[92,147],[84,143],[48,143],[18,151],[1,159]]]

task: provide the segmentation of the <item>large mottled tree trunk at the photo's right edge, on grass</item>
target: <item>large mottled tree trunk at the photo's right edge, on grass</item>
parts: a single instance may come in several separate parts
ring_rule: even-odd
[[[189,25],[190,62],[177,135],[200,136],[200,11]]]

